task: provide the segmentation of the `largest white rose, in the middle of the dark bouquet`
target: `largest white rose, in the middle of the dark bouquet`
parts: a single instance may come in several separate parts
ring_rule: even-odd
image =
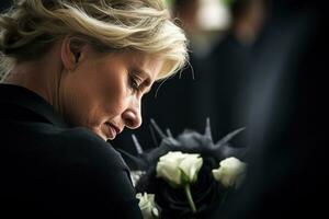
[[[157,177],[162,177],[174,186],[193,183],[203,160],[196,153],[168,152],[157,164]]]

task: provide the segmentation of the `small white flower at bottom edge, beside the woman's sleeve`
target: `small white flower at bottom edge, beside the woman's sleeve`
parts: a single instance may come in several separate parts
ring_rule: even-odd
[[[144,219],[156,219],[159,218],[159,210],[155,203],[155,195],[144,193],[141,195],[138,193],[136,197],[139,199],[139,208]]]

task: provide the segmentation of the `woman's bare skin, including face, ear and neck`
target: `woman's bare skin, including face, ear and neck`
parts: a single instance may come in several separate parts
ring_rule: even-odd
[[[139,53],[100,54],[91,46],[70,49],[57,42],[38,60],[15,65],[5,83],[34,91],[72,127],[83,126],[104,140],[141,125],[140,101],[157,80],[163,59]]]

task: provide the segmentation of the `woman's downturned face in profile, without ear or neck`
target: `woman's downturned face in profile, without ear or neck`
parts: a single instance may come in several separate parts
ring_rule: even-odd
[[[87,48],[61,79],[60,112],[72,126],[114,139],[141,124],[140,101],[157,79],[162,59],[137,53],[101,55]]]

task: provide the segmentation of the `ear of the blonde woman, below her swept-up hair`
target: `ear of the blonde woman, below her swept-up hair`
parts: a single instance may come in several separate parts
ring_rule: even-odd
[[[81,50],[84,43],[78,37],[67,36],[61,42],[61,61],[66,69],[73,70],[81,59]]]

